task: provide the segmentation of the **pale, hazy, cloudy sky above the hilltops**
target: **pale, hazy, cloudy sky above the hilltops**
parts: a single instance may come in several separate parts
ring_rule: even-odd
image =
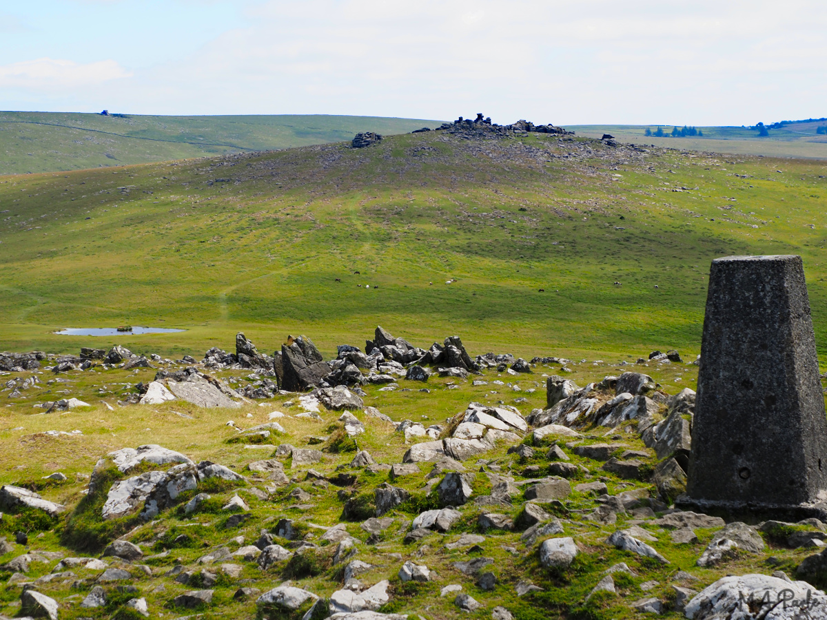
[[[824,0],[0,0],[0,109],[827,117]]]

